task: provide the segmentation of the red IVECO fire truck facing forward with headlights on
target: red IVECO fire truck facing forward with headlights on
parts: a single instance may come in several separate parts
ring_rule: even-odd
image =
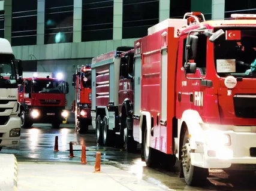
[[[23,84],[19,87],[20,118],[22,128],[29,128],[34,123],[50,123],[52,128],[59,128],[68,116],[65,110],[68,83],[58,78],[50,78],[47,73],[24,74]],[[40,77],[38,77],[40,76]]]

